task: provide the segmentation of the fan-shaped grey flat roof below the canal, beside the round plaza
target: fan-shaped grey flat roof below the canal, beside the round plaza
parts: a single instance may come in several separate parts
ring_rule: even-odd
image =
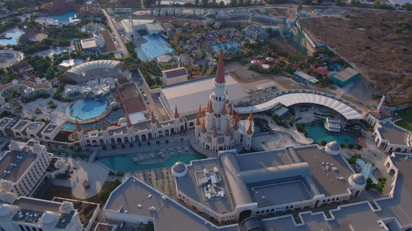
[[[144,217],[152,217],[150,207],[154,206],[159,209],[165,202],[159,196],[154,195],[155,191],[149,188],[146,184],[141,184],[138,181],[126,180],[111,193],[106,206],[107,210],[120,211],[121,213],[128,210],[128,213]],[[152,198],[148,198],[152,195]],[[138,205],[141,204],[142,208]]]

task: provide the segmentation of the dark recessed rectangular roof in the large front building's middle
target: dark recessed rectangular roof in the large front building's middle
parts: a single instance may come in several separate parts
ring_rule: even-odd
[[[249,193],[253,202],[258,202],[259,208],[312,199],[301,180],[253,187],[249,189]]]

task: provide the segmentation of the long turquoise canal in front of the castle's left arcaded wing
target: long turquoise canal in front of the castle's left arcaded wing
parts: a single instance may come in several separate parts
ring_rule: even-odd
[[[113,171],[119,171],[120,173],[128,171],[143,171],[148,169],[160,169],[163,167],[172,167],[176,162],[181,161],[186,165],[190,164],[192,160],[201,160],[204,159],[203,156],[197,154],[180,154],[178,156],[172,156],[163,162],[152,165],[139,165],[138,163],[133,162],[132,155],[119,155],[119,156],[106,156],[96,158],[103,165],[112,169]]]

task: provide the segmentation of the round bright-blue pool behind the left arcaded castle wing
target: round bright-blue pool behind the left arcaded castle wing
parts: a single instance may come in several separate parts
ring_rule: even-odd
[[[108,107],[106,101],[99,99],[80,99],[66,107],[65,114],[71,120],[87,121],[100,116]]]

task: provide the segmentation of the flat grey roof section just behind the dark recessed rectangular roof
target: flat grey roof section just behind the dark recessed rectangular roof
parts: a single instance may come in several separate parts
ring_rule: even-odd
[[[292,164],[292,161],[284,149],[260,151],[258,153],[242,154],[236,157],[238,158],[239,166],[242,171]]]

